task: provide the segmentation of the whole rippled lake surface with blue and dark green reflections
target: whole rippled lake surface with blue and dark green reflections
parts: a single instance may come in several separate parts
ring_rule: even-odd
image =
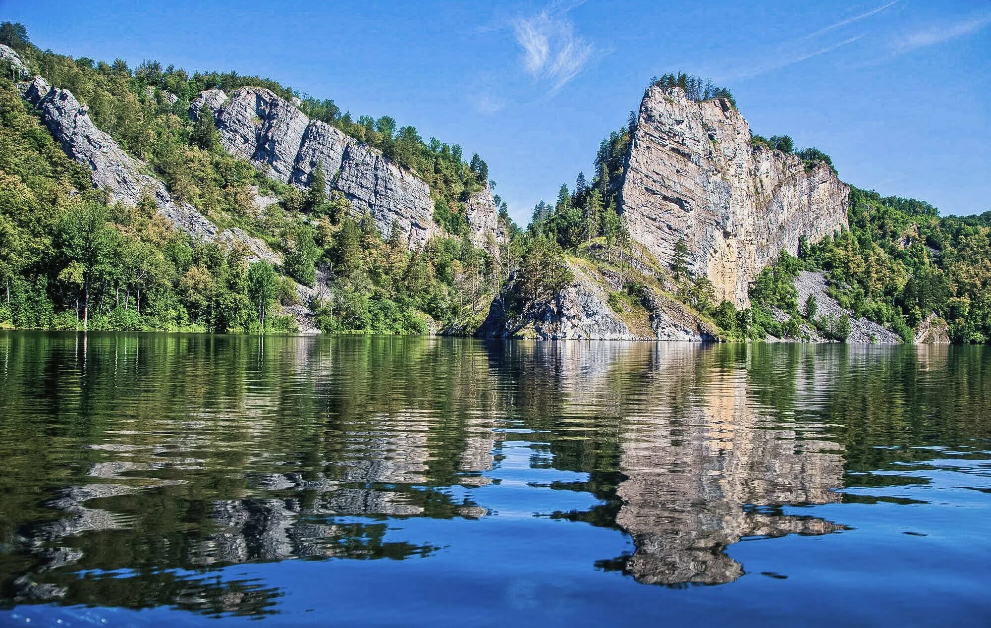
[[[991,352],[0,333],[0,624],[988,625]]]

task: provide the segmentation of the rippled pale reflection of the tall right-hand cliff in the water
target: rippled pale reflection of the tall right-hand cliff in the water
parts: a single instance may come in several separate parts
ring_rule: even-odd
[[[562,404],[534,408],[536,414],[561,416],[565,423],[589,418],[593,426],[584,442],[602,439],[604,432],[614,439],[614,462],[601,461],[594,471],[606,475],[605,485],[610,474],[618,475],[600,495],[613,503],[606,520],[593,513],[562,515],[598,520],[632,536],[632,556],[601,561],[600,567],[645,583],[717,584],[743,574],[724,553],[743,537],[842,529],[777,512],[782,505],[839,501],[833,489],[843,483],[841,446],[823,440],[822,423],[797,424],[794,416],[751,398],[755,382],[745,348],[609,344],[590,351],[580,344],[545,344],[535,351],[539,357],[521,361],[520,370],[553,365],[550,376],[531,373],[537,379],[532,387],[556,390],[553,398]],[[796,363],[791,385],[781,393],[804,397],[826,388],[816,375],[818,362]],[[824,373],[830,369],[822,367]]]

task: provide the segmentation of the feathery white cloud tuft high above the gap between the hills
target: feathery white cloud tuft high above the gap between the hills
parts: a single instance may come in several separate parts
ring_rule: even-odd
[[[512,23],[513,36],[522,49],[523,70],[534,80],[558,91],[585,68],[596,48],[575,32],[566,11],[544,9],[528,19]]]

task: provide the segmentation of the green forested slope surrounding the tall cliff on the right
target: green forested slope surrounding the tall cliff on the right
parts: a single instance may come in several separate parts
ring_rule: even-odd
[[[653,84],[681,87],[689,99],[721,98],[736,106],[728,90],[683,73],[666,74]],[[635,124],[631,112],[628,125],[603,140],[591,181],[579,172],[573,187],[561,185],[554,204],[541,201],[534,207],[526,238],[547,240],[545,250],[576,259],[602,263],[606,257],[626,276],[622,296],[642,290],[646,275],[659,289],[712,319],[727,340],[772,336],[844,341],[851,319],[861,317],[892,330],[904,342],[913,342],[921,325],[943,322],[953,342],[991,339],[991,212],[940,217],[924,201],[881,197],[855,187],[849,194],[849,229],[815,245],[803,239],[798,251],[782,251],[778,262],[750,284],[749,307],[716,301],[710,278],[689,272],[684,240],[676,243],[671,262],[659,263],[631,240],[617,214],[624,157]],[[754,135],[751,142],[795,154],[807,169],[825,162],[835,170],[826,153],[796,150],[788,136]],[[521,272],[528,270],[539,272],[527,267]],[[824,312],[815,295],[799,301],[796,279],[819,272],[826,273],[826,293],[847,312]],[[610,303],[618,303],[620,309],[628,301],[617,295]]]

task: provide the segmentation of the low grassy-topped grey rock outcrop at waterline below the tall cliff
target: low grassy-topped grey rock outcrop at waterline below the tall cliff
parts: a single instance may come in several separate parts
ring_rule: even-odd
[[[673,299],[650,288],[640,303],[610,299],[610,292],[622,289],[621,277],[575,262],[569,266],[575,276],[571,284],[536,303],[515,303],[514,279],[510,279],[495,297],[478,334],[543,340],[718,340],[711,325]]]

